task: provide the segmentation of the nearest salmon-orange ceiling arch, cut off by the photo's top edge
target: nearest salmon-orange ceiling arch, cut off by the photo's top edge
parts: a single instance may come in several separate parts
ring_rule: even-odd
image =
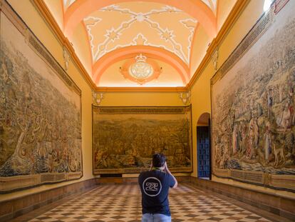
[[[64,33],[71,37],[76,26],[83,21],[89,14],[98,9],[112,4],[123,2],[134,2],[138,0],[78,0],[74,1],[64,14]],[[197,19],[200,25],[204,27],[209,38],[214,38],[216,35],[216,17],[213,11],[202,0],[145,0],[145,2],[156,2],[174,6],[177,9],[185,11],[187,14]]]

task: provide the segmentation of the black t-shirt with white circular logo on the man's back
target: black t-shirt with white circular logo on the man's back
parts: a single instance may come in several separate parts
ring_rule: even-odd
[[[168,192],[175,185],[174,178],[169,173],[147,171],[138,177],[142,206],[144,213],[162,213],[171,216]]]

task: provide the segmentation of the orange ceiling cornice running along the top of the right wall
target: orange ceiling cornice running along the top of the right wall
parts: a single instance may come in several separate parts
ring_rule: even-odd
[[[219,30],[217,36],[212,40],[211,44],[209,45],[205,57],[202,59],[200,65],[195,71],[195,74],[192,76],[192,79],[190,79],[190,82],[187,84],[187,89],[192,89],[192,86],[195,84],[195,81],[197,81],[197,79],[200,77],[200,75],[206,68],[208,62],[211,61],[212,54],[214,54],[214,51],[218,48],[220,44],[222,44],[222,41],[229,33],[229,30],[232,29],[234,22],[237,21],[240,14],[242,14],[242,11],[244,11],[249,2],[250,0],[239,0],[236,2],[236,4],[234,4],[232,11],[230,11],[229,16],[227,16],[227,19],[224,21],[224,24],[222,25],[222,28]]]

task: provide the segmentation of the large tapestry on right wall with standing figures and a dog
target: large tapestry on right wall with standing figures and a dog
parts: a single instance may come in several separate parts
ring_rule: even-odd
[[[295,191],[295,1],[276,6],[212,79],[212,168]]]

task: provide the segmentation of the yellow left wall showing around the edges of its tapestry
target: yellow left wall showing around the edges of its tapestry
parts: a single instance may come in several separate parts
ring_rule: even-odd
[[[21,19],[29,26],[31,31],[46,46],[46,49],[56,58],[59,64],[63,64],[63,47],[54,36],[53,32],[48,28],[46,22],[43,21],[38,11],[29,0],[9,0],[9,4],[14,8]],[[48,188],[56,188],[65,184],[76,183],[93,178],[92,174],[92,123],[91,123],[91,104],[92,94],[90,86],[83,79],[76,66],[70,61],[68,74],[82,91],[82,150],[83,150],[83,177],[80,180],[56,183],[51,185],[42,185],[36,188],[29,188],[24,191],[16,191],[1,195],[1,200],[25,196],[29,193],[44,191]]]

